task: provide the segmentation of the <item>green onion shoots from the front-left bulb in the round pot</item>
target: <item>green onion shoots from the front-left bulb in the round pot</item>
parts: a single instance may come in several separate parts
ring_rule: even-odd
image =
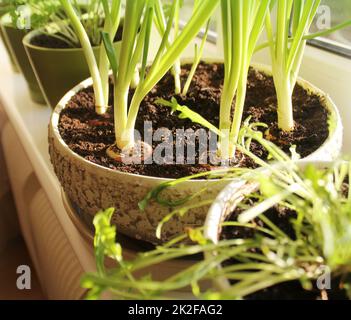
[[[183,50],[197,36],[199,30],[208,21],[217,6],[217,1],[202,1],[184,29],[170,44],[169,36],[179,10],[179,1],[173,1],[157,54],[147,69],[150,33],[155,11],[158,8],[157,3],[153,0],[127,1],[125,28],[119,59],[117,59],[110,39],[105,35],[103,37],[113,70],[116,146],[121,151],[130,150],[136,143],[134,127],[141,102],[167,71],[177,63]],[[140,31],[138,33],[139,27]],[[140,60],[140,80],[129,103],[131,81]]]

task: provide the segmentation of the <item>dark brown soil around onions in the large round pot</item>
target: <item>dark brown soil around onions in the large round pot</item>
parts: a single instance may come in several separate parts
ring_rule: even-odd
[[[182,69],[182,82],[190,70],[190,65]],[[62,111],[59,130],[63,140],[69,148],[96,164],[140,175],[180,178],[192,174],[205,172],[210,169],[207,165],[184,164],[176,165],[176,139],[177,129],[203,129],[201,125],[192,123],[187,119],[179,119],[172,114],[170,108],[159,106],[155,101],[159,98],[170,100],[175,97],[179,104],[186,105],[199,113],[213,125],[219,125],[219,105],[221,89],[224,78],[223,64],[201,63],[194,76],[190,90],[186,97],[174,96],[174,79],[167,74],[158,85],[149,93],[141,104],[136,129],[144,137],[144,121],[151,121],[153,132],[159,128],[172,131],[174,156],[165,159],[164,163],[151,165],[126,165],[114,161],[106,155],[106,149],[114,143],[113,109],[109,108],[103,116],[97,116],[94,111],[93,89],[87,88],[76,94],[67,107]],[[113,101],[113,90],[110,90],[110,102]],[[284,133],[278,129],[276,114],[276,94],[273,79],[263,73],[251,69],[248,78],[248,92],[245,102],[244,119],[251,116],[252,122],[263,122],[269,126],[266,137],[276,143],[284,151],[289,152],[292,145],[297,146],[297,152],[305,157],[316,151],[328,137],[328,111],[323,107],[319,96],[311,95],[297,86],[293,95],[295,130]],[[209,132],[209,136],[211,136]],[[169,137],[162,137],[162,141],[154,142],[155,148]],[[199,141],[196,140],[197,147]],[[198,151],[199,148],[196,148]],[[251,150],[262,159],[267,158],[267,152],[257,143],[252,143]],[[187,153],[185,152],[185,156]],[[196,160],[200,156],[196,154]],[[241,167],[254,167],[251,159],[238,155],[238,163],[233,165]],[[171,163],[171,164],[169,164]],[[173,164],[172,164],[173,163]]]

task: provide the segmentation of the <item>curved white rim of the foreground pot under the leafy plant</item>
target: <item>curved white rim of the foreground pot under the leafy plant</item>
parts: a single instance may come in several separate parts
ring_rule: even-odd
[[[297,161],[296,163],[302,168],[309,164],[314,164],[321,168],[329,167],[331,164],[333,164],[332,161],[309,161],[309,160]],[[279,163],[277,163],[276,165],[279,166]],[[264,170],[264,169],[261,168],[258,170]],[[233,198],[233,196],[238,192],[238,190],[242,186],[247,185],[247,183],[248,181],[245,181],[243,179],[235,179],[218,194],[216,200],[214,201],[214,203],[212,204],[212,206],[208,211],[205,225],[204,225],[204,237],[207,240],[215,244],[219,242],[221,224],[227,217],[227,211],[232,209],[231,206],[228,205],[228,202],[230,201],[230,199]],[[254,184],[253,189],[257,190],[258,184]],[[206,253],[205,259],[209,259],[215,254],[216,254],[215,251]],[[220,265],[217,267],[221,268]],[[230,283],[225,277],[218,277],[217,279],[213,280],[213,283],[219,290],[226,290],[230,287]]]

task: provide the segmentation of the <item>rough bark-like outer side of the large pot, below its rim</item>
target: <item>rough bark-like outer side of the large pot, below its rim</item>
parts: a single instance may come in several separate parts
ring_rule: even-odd
[[[203,226],[209,206],[192,209],[183,217],[174,216],[162,230],[162,238],[156,237],[156,229],[160,221],[174,209],[163,207],[151,201],[145,211],[141,211],[138,203],[147,193],[156,187],[160,181],[150,184],[144,183],[143,176],[135,177],[121,173],[118,178],[114,175],[101,175],[95,167],[71,157],[57,145],[52,134],[49,134],[49,154],[55,173],[69,199],[81,209],[81,215],[86,224],[91,225],[95,214],[106,208],[115,208],[112,223],[121,232],[137,240],[154,244],[169,241],[186,231],[187,228]],[[205,187],[210,181],[203,181]],[[199,187],[192,187],[195,183],[188,183],[181,188],[172,188],[162,192],[162,196],[169,200],[179,200],[198,191]],[[224,187],[223,183],[213,183],[192,203],[214,199]]]

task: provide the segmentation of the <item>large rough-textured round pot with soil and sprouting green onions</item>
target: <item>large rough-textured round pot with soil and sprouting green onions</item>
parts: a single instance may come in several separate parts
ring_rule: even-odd
[[[113,222],[120,232],[151,242],[160,241],[155,234],[158,221],[168,216],[172,207],[189,197],[194,202],[206,202],[208,194],[215,193],[220,183],[224,183],[206,181],[204,177],[208,175],[204,172],[221,164],[256,166],[236,147],[243,118],[260,123],[258,130],[287,152],[296,144],[302,158],[332,159],[337,155],[341,146],[341,120],[327,95],[298,80],[294,103],[299,108],[295,122],[301,130],[285,134],[278,129],[273,78],[267,68],[249,68],[274,3],[222,1],[224,63],[218,60],[199,63],[203,40],[192,63],[183,65],[178,81],[176,70],[182,51],[201,27],[208,27],[219,2],[195,2],[190,21],[179,32],[178,1],[165,11],[160,1],[128,1],[119,57],[112,48],[111,37],[106,33],[103,36],[114,86],[106,112],[101,109],[104,101],[101,73],[84,28],[77,23],[76,34],[82,46],[85,44],[92,79],[81,83],[60,101],[51,120],[49,141],[56,174],[84,220],[91,224],[100,208],[115,207]],[[109,16],[109,10],[105,11]],[[75,19],[73,15],[70,18]],[[152,21],[161,42],[148,64]],[[183,135],[178,139],[177,133],[189,130],[197,130],[191,142],[195,153],[191,149],[179,153],[178,148],[184,147],[188,138]],[[205,134],[197,136],[199,132]],[[262,161],[269,156],[262,146],[252,144],[251,148]],[[172,180],[192,174],[197,180],[184,179],[181,184]],[[205,185],[213,188],[204,188]],[[155,187],[158,191],[148,195],[149,205],[144,202],[139,207],[138,202]],[[201,193],[202,189],[208,193]],[[200,194],[201,198],[196,198]],[[155,200],[160,198],[164,204],[172,204],[171,208],[157,206]],[[162,240],[181,233],[186,226],[201,225],[205,211],[202,208],[184,217],[176,216],[165,226]]]

